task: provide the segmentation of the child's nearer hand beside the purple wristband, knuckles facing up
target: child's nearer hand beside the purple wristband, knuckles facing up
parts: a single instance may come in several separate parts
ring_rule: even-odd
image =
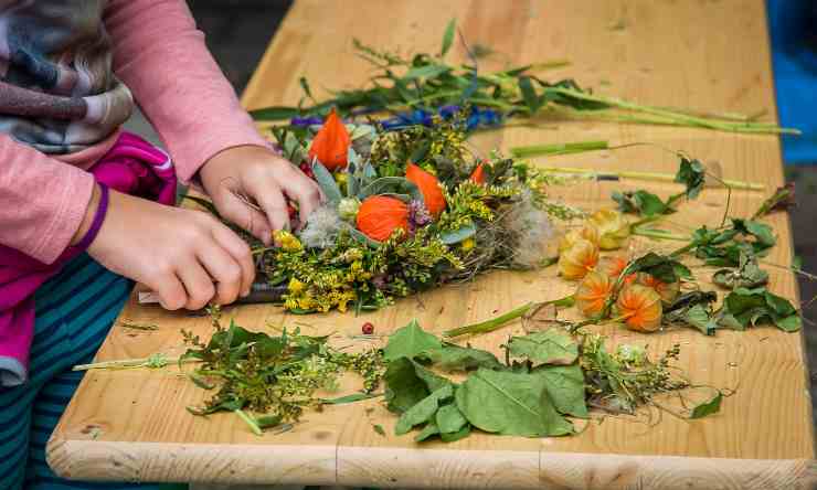
[[[250,246],[212,215],[113,190],[88,254],[150,287],[169,310],[233,302],[255,277]]]

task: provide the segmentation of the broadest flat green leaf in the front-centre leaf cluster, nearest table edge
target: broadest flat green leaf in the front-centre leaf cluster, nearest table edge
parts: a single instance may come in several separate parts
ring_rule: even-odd
[[[553,406],[544,377],[480,369],[456,391],[457,407],[475,427],[507,436],[562,436],[573,425]]]

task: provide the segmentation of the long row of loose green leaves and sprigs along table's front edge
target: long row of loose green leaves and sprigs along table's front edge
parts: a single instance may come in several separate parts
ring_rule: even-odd
[[[502,345],[502,363],[488,351],[445,342],[416,321],[392,333],[382,350],[362,353],[338,352],[326,337],[297,331],[272,337],[235,323],[222,328],[217,315],[213,326],[206,343],[184,334],[191,347],[179,362],[201,361],[189,377],[215,391],[204,406],[188,411],[233,412],[258,435],[289,426],[306,408],[378,396],[381,383],[386,408],[399,415],[395,435],[417,429],[416,441],[454,441],[475,429],[523,437],[572,435],[577,433],[573,420],[588,418],[593,408],[635,414],[659,394],[689,387],[671,368],[678,345],[652,361],[645,348],[623,344],[608,352],[604,337],[560,328],[511,337]],[[316,396],[337,390],[344,372],[362,377],[360,392]],[[685,416],[718,412],[720,396],[718,392],[707,402],[707,413],[696,406]]]

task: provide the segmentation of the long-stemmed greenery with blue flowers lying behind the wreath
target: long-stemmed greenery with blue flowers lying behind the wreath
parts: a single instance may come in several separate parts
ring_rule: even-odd
[[[604,97],[571,78],[549,82],[537,75],[541,70],[565,66],[569,64],[565,61],[485,73],[479,68],[479,57],[486,54],[486,50],[481,46],[471,50],[464,40],[469,63],[450,64],[445,56],[454,45],[455,33],[455,21],[452,20],[438,53],[411,56],[369,46],[356,39],[356,54],[374,68],[365,88],[336,90],[331,98],[318,102],[307,79],[300,78],[305,96],[298,106],[267,107],[251,114],[259,120],[288,119],[291,126],[320,124],[321,117],[332,108],[338,108],[350,120],[391,114],[392,117],[380,119],[380,124],[386,129],[396,129],[413,125],[432,126],[434,116],[452,117],[464,105],[469,105],[474,108],[467,121],[469,129],[494,128],[511,117],[530,119],[550,115],[734,132],[799,134],[757,121],[754,117],[701,114]]]

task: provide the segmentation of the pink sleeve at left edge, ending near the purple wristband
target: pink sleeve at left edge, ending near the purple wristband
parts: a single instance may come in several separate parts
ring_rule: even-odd
[[[0,135],[0,244],[51,264],[91,202],[94,177]]]

